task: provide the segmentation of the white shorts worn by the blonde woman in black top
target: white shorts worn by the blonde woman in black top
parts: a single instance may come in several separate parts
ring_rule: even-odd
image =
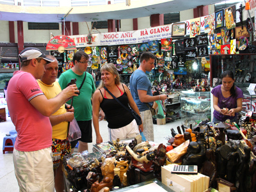
[[[127,138],[134,138],[136,135],[140,134],[139,127],[136,123],[136,120],[132,120],[132,122],[124,127],[120,127],[118,129],[109,129],[109,141],[116,140],[119,138],[120,140],[125,140]]]

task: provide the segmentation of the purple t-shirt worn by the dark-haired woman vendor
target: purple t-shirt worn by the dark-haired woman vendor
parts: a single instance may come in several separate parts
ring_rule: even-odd
[[[236,86],[236,96],[235,97],[232,95],[228,98],[223,97],[222,92],[221,92],[221,84],[216,86],[215,88],[213,88],[211,93],[215,97],[218,97],[219,108],[221,108],[221,109],[228,108],[228,110],[237,108],[236,100],[244,97],[242,90],[240,88],[238,88],[237,86]],[[217,118],[218,120],[220,120],[221,122],[224,122],[228,118],[230,120],[235,118],[237,116],[237,113],[235,116],[227,116],[227,115],[222,115],[218,111],[214,110],[213,116],[215,118]]]

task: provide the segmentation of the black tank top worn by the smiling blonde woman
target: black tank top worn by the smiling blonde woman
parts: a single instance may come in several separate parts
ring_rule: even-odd
[[[101,91],[100,93],[102,95]],[[129,101],[125,90],[124,94],[120,97],[117,97],[117,99],[120,100],[120,102],[122,102],[125,107],[129,108]],[[132,120],[134,120],[134,117],[131,115],[131,113],[123,108],[115,99],[106,99],[103,97],[103,100],[100,103],[100,108],[105,113],[108,127],[110,129],[118,129],[120,127],[124,127],[125,125],[130,124]]]

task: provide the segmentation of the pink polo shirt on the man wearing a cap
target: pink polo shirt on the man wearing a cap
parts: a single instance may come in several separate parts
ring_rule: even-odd
[[[7,94],[8,109],[17,131],[15,149],[28,152],[50,147],[52,126],[49,117],[42,115],[29,102],[44,95],[35,77],[28,72],[14,72]]]

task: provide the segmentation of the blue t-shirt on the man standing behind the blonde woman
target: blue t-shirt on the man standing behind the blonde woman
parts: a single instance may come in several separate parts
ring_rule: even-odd
[[[132,73],[130,79],[130,90],[132,98],[135,101],[140,111],[149,110],[147,104],[151,107],[153,102],[141,102],[138,95],[138,90],[147,91],[147,95],[153,96],[151,91],[151,83],[143,70],[137,69]]]

